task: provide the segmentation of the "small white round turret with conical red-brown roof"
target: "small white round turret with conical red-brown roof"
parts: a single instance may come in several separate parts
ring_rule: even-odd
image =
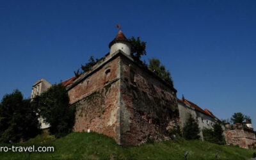
[[[120,49],[128,56],[131,56],[131,44],[124,36],[124,33],[121,31],[121,29],[118,31],[116,38],[109,43],[108,47],[110,49],[110,54],[113,54]]]

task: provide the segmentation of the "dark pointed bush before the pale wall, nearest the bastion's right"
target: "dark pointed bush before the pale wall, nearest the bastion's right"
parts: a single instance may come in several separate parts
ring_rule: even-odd
[[[196,140],[200,138],[199,133],[200,133],[200,130],[198,127],[198,122],[190,114],[182,129],[182,136],[186,140]]]

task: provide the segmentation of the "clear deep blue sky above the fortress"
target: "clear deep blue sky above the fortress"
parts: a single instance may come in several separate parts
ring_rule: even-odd
[[[109,52],[121,24],[147,42],[185,98],[218,118],[235,112],[256,125],[256,1],[1,1],[0,99],[35,81],[74,76]]]

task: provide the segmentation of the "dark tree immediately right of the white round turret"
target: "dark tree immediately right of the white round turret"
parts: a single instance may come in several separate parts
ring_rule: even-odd
[[[131,44],[132,51],[131,55],[134,58],[135,61],[140,61],[140,58],[142,55],[146,55],[146,42],[141,42],[140,41],[140,36],[134,38],[132,36],[131,38],[128,39],[129,43]]]

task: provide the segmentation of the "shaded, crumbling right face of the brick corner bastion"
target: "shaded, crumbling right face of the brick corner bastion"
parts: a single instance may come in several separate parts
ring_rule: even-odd
[[[122,143],[138,145],[148,138],[161,140],[168,129],[179,125],[176,91],[125,56],[121,65]]]

